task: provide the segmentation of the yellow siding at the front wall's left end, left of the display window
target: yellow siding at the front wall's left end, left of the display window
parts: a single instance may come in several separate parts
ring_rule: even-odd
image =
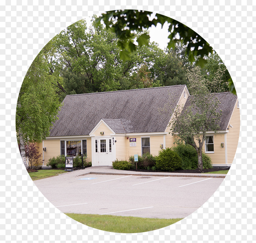
[[[44,152],[44,166],[46,166],[50,158],[60,155],[60,139],[46,139],[44,147],[46,147]]]

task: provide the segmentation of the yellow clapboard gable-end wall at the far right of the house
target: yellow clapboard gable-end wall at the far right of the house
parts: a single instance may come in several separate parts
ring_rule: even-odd
[[[240,110],[237,108],[237,101],[229,124],[233,126],[227,133],[228,164],[231,164],[236,154],[240,133]]]

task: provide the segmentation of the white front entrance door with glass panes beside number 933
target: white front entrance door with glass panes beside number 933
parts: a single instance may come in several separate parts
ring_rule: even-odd
[[[95,138],[95,166],[111,166],[114,155],[114,137]]]

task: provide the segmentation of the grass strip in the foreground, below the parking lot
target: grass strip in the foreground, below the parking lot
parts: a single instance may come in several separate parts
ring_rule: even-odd
[[[98,214],[66,213],[66,215],[89,227],[116,233],[140,233],[152,231],[182,220],[181,218],[159,219]]]

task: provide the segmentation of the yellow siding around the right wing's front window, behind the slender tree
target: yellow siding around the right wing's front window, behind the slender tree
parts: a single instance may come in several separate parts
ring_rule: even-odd
[[[214,153],[205,153],[208,155],[211,160],[213,165],[217,164],[225,164],[225,145],[224,148],[220,146],[221,143],[225,144],[225,135],[222,134],[214,134],[213,135],[213,144],[214,144]],[[202,152],[205,152],[205,143],[202,148]]]

